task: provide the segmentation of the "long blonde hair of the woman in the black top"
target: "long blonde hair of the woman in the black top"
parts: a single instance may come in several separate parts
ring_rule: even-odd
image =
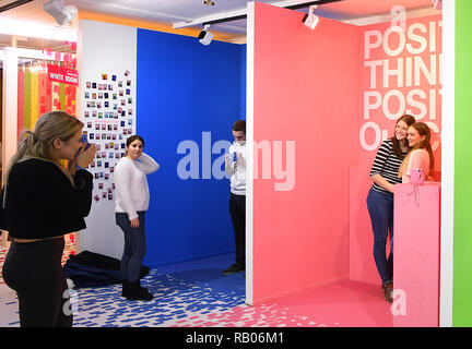
[[[10,159],[9,166],[3,177],[4,195],[7,194],[8,179],[13,166],[16,163],[21,163],[31,158],[39,158],[56,164],[64,172],[73,185],[73,179],[71,174],[52,159],[52,142],[56,139],[67,142],[72,139],[72,136],[82,128],[82,121],[64,111],[51,111],[40,116],[36,122],[34,131],[25,130],[20,135],[16,153]]]

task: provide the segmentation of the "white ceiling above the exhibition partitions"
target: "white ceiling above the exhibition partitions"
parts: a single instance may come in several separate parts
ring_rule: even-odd
[[[172,26],[177,22],[192,21],[198,17],[244,9],[247,0],[212,0],[214,5],[203,4],[203,0],[64,0],[66,5],[75,5],[79,11],[94,12],[125,19],[142,20]],[[260,0],[266,3],[279,3],[282,0]],[[286,1],[286,0],[285,0]],[[5,35],[1,35],[1,24],[7,21],[27,23],[36,26],[52,26],[58,28],[55,20],[43,10],[47,0],[34,0],[15,9],[0,13],[0,45]],[[309,1],[306,1],[309,2]],[[343,0],[321,5],[318,15],[349,21],[364,17],[387,15],[394,5],[402,5],[409,12],[434,10],[432,0]],[[299,11],[305,11],[302,9]],[[427,13],[427,14],[429,14]],[[62,29],[76,31],[78,21]],[[200,26],[201,27],[201,26]],[[246,20],[232,21],[212,26],[213,31],[228,33],[234,36],[246,35]],[[20,41],[19,41],[20,46]]]

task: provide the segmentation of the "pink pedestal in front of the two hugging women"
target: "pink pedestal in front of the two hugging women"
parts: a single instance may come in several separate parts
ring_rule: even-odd
[[[393,326],[439,325],[440,184],[394,192]]]

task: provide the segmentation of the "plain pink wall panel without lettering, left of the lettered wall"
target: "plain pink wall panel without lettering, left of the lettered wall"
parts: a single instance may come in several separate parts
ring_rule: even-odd
[[[349,176],[359,110],[358,27],[255,4],[253,139],[282,156],[294,185],[263,174],[259,153],[253,180],[253,303],[349,274]],[[291,141],[295,141],[291,143]],[[272,156],[272,165],[280,157]],[[354,160],[353,160],[354,159]],[[288,164],[288,166],[286,166]],[[276,166],[275,166],[276,167]],[[268,174],[269,173],[269,174]],[[280,189],[280,188],[279,188]]]

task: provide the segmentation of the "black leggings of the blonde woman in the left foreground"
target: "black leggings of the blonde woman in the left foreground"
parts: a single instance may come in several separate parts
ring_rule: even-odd
[[[12,242],[3,279],[16,291],[22,327],[71,327],[72,312],[61,265],[64,239]]]

